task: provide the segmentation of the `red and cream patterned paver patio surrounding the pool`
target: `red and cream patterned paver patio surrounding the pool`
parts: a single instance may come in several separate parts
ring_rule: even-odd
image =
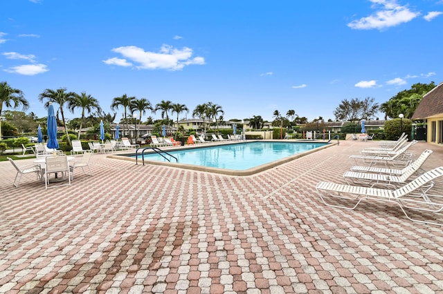
[[[317,182],[344,184],[368,146],[247,177],[96,154],[92,177],[48,190],[32,176],[15,188],[0,162],[0,293],[442,293],[442,227],[386,202],[320,201]],[[425,148],[424,169],[443,166],[440,146],[410,151]]]

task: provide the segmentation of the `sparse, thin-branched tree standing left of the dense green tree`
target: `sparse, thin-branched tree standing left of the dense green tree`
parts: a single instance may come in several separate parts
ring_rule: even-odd
[[[360,121],[361,119],[372,119],[379,110],[379,104],[375,99],[367,97],[364,100],[352,98],[351,101],[344,99],[334,110],[334,115],[339,121]]]

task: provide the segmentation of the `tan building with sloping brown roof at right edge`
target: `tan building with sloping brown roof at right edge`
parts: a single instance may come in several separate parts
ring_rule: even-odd
[[[426,125],[426,141],[443,144],[443,82],[427,92],[412,119]]]

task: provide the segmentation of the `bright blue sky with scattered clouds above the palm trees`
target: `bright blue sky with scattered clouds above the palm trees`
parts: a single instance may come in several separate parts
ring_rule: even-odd
[[[64,87],[105,112],[127,94],[186,104],[188,118],[211,101],[224,119],[334,119],[343,99],[440,84],[442,12],[443,0],[3,0],[0,81],[39,117],[38,95]]]

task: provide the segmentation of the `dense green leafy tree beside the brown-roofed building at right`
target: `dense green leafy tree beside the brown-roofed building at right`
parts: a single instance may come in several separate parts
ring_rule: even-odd
[[[385,119],[388,117],[395,119],[401,113],[405,118],[410,119],[420,101],[422,101],[423,96],[433,88],[435,88],[433,81],[431,81],[431,84],[413,84],[410,90],[398,92],[397,95],[381,104],[380,110],[385,112]]]

